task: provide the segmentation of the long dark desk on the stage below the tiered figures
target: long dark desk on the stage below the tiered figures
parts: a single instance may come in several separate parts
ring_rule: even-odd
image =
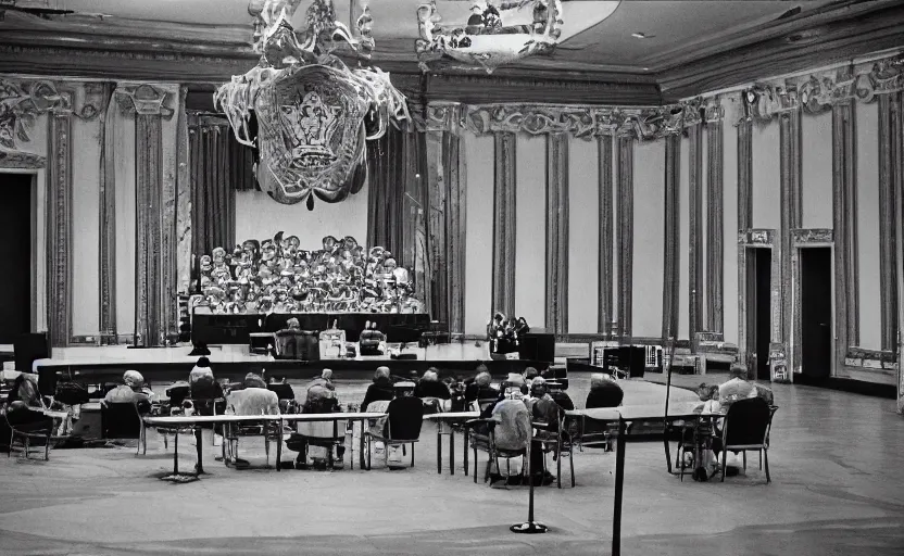
[[[328,330],[336,324],[346,331],[346,340],[356,342],[364,325],[376,323],[388,342],[415,343],[429,328],[430,315],[404,313],[248,313],[222,315],[196,312],[191,321],[191,341],[208,345],[248,344],[255,332],[278,332],[297,318],[302,330]]]

